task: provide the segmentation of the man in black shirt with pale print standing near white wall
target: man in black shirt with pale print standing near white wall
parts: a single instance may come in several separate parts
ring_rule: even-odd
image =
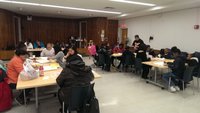
[[[139,35],[135,35],[135,40],[133,41],[132,46],[134,47],[134,50],[137,52],[139,49],[141,49],[141,45],[144,44],[144,41],[140,39]]]

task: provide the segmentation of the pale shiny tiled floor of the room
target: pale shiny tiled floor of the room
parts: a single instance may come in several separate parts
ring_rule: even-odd
[[[84,58],[88,64],[91,59]],[[200,92],[188,87],[184,92],[170,93],[146,84],[133,73],[102,72],[94,69],[102,78],[96,80],[95,91],[101,113],[200,113]],[[58,113],[57,98],[40,103],[40,113]],[[34,103],[18,106],[5,113],[36,113]]]

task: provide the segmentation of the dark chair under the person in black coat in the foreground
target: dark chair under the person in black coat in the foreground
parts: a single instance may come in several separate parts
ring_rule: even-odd
[[[69,100],[63,101],[62,112],[65,113],[65,103],[68,103],[67,111],[69,113],[86,113],[85,108],[90,99],[90,92],[91,85],[72,87]]]

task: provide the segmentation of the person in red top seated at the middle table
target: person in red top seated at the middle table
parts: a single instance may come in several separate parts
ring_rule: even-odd
[[[123,44],[119,44],[119,46],[115,46],[112,50],[112,53],[123,53],[123,52],[124,52]],[[115,57],[111,56],[111,64],[112,64],[112,66],[115,67],[114,59],[115,59]],[[120,60],[120,65],[121,65],[121,57],[117,57],[117,59]],[[120,68],[120,65],[118,65],[117,67]]]

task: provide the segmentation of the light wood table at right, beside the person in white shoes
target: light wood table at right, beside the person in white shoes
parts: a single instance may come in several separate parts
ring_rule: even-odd
[[[157,71],[158,69],[169,69],[167,63],[173,62],[173,61],[174,60],[171,60],[171,59],[160,59],[160,58],[155,59],[154,58],[151,61],[142,62],[142,64],[149,65],[155,68],[154,79],[153,80],[147,79],[146,82],[154,84],[164,89],[164,86],[157,82]]]

